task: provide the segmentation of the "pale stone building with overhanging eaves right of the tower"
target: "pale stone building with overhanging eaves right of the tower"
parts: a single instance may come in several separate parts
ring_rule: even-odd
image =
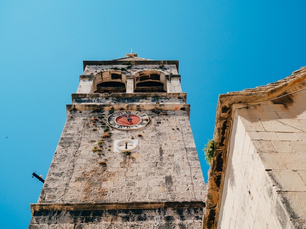
[[[306,228],[306,67],[219,96],[203,228]]]

